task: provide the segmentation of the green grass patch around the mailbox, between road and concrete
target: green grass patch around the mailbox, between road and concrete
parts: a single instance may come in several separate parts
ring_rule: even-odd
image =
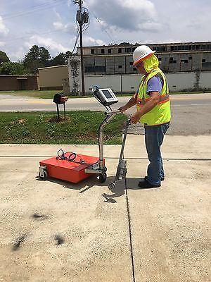
[[[98,126],[105,118],[103,113],[68,111],[66,117],[58,123],[56,112],[0,113],[0,143],[98,144]],[[106,125],[105,144],[121,144],[126,120],[127,116],[116,115]]]

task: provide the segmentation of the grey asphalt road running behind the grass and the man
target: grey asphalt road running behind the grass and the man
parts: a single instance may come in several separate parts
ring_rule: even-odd
[[[4,97],[5,98],[5,97]],[[113,109],[124,105],[129,97],[119,97],[119,102]],[[172,125],[169,135],[210,135],[211,134],[211,93],[205,94],[174,94],[171,96]],[[60,106],[63,109],[63,106]],[[69,99],[67,110],[105,109],[94,98]],[[52,99],[1,99],[0,111],[56,111]],[[135,108],[129,109],[132,114]],[[143,133],[140,125],[130,128],[129,133]]]

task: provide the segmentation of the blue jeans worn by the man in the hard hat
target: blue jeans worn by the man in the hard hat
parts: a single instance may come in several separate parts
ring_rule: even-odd
[[[150,164],[147,168],[147,178],[152,185],[159,185],[160,179],[165,177],[160,147],[170,123],[160,125],[144,125],[145,144]]]

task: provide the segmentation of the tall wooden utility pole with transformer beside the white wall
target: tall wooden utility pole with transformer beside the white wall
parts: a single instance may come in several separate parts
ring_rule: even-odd
[[[87,23],[86,15],[82,13],[82,0],[74,0],[74,4],[79,5],[79,11],[77,11],[77,22],[79,23],[79,35],[80,35],[80,56],[81,56],[81,70],[82,70],[82,95],[85,95],[85,83],[84,83],[84,54],[83,54],[83,30],[82,25]]]

